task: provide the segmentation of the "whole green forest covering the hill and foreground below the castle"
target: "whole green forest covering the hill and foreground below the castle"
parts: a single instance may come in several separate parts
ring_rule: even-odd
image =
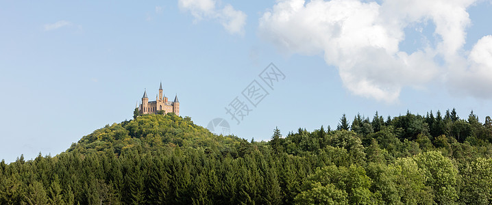
[[[473,111],[265,135],[136,114],[56,156],[1,161],[0,204],[492,204],[492,120]]]

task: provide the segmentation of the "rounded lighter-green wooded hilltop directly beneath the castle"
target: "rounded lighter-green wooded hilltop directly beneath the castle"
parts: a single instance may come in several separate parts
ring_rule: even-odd
[[[167,115],[143,115],[135,120],[106,125],[72,144],[67,152],[114,153],[123,150],[138,152],[162,151],[185,147],[204,152],[227,152],[242,140],[234,136],[218,136],[208,129],[193,124],[189,117],[182,118],[174,113]]]

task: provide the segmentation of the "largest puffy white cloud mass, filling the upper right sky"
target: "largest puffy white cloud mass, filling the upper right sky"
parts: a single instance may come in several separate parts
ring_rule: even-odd
[[[490,55],[483,54],[491,48],[489,38],[477,43],[469,63],[463,54],[470,24],[467,8],[475,1],[280,0],[262,15],[258,30],[282,51],[323,54],[353,94],[395,102],[403,87],[423,87],[438,76],[456,76],[460,71],[456,66],[464,66],[461,71],[471,75],[486,72],[473,69],[492,69]],[[404,29],[427,22],[435,25],[436,44],[413,53],[401,51]],[[492,77],[487,80],[492,82]]]

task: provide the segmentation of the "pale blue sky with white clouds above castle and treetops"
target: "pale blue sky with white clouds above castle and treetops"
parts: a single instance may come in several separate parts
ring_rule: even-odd
[[[483,122],[491,11],[491,0],[0,1],[0,159],[55,156],[131,120],[160,82],[180,115],[256,141],[336,128],[343,113],[456,108]]]

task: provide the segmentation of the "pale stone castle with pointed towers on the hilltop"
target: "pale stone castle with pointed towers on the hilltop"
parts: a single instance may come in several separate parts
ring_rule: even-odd
[[[140,104],[138,110],[142,114],[158,113],[158,111],[164,111],[165,113],[175,113],[180,115],[180,101],[177,100],[177,94],[174,97],[173,102],[167,101],[167,97],[162,93],[162,83],[159,87],[159,96],[156,95],[156,101],[150,101],[147,98],[147,90],[143,92],[142,103]]]

